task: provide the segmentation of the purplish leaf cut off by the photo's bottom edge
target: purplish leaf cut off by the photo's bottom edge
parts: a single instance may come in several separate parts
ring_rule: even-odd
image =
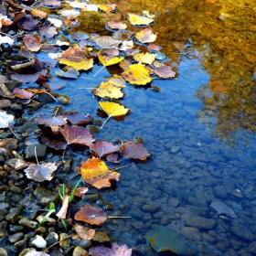
[[[112,248],[97,246],[92,247],[89,250],[91,255],[94,256],[131,256],[132,249],[129,249],[126,244],[118,246],[116,243],[112,243]]]

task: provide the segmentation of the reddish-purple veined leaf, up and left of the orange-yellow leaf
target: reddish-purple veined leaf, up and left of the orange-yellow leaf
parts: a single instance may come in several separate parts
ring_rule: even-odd
[[[59,129],[68,144],[91,145],[95,140],[92,139],[91,133],[84,127],[65,125]]]

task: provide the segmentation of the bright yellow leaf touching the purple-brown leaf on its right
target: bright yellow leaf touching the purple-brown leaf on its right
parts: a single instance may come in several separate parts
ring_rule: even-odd
[[[122,73],[122,76],[131,84],[145,85],[152,81],[148,69],[141,63],[131,65],[128,70]]]

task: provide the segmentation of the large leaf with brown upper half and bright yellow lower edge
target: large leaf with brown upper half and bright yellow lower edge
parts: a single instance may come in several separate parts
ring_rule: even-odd
[[[77,70],[88,70],[93,67],[93,59],[88,59],[80,47],[70,47],[65,50],[59,59],[59,63],[66,64]]]

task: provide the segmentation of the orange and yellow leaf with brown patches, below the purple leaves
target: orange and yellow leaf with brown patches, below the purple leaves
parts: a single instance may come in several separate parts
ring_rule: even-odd
[[[99,158],[92,157],[83,162],[80,168],[83,180],[93,187],[111,187],[112,180],[119,180],[119,173],[109,170]]]

